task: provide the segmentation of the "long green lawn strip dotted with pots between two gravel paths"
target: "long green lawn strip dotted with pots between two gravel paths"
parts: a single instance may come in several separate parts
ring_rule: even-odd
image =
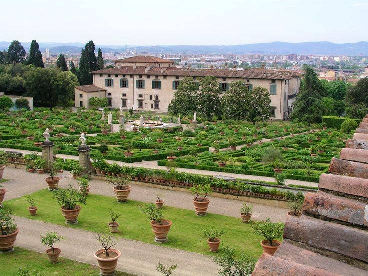
[[[126,203],[118,203],[113,197],[89,194],[87,205],[82,206],[79,224],[70,226],[65,224],[60,207],[52,198],[52,192],[44,189],[33,193],[33,196],[36,199],[35,206],[38,207],[36,216],[29,215],[27,210],[29,204],[24,197],[6,201],[5,208],[11,208],[17,216],[93,232],[106,231],[106,224],[110,221],[108,211],[114,209],[122,213],[118,219],[120,232],[116,235],[157,244],[153,240],[154,235],[147,217],[138,208],[140,204],[144,204],[142,202],[129,200]],[[194,207],[193,210],[185,210],[165,206],[162,211],[166,219],[172,220],[173,225],[168,234],[169,241],[157,244],[158,246],[215,255],[216,253],[209,252],[206,240],[201,237],[202,229],[214,226],[225,230],[226,233],[221,237],[223,244],[233,247],[237,253],[247,253],[255,257],[259,257],[262,253],[260,246],[262,237],[254,234],[249,224],[241,223],[240,218],[218,214],[199,217],[195,215]]]

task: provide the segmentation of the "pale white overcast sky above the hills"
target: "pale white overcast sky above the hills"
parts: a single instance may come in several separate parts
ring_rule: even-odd
[[[368,0],[1,0],[0,41],[235,45],[368,40]]]

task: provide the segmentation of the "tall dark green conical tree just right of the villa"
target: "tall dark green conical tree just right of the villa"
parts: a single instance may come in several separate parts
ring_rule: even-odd
[[[319,122],[324,113],[322,104],[324,89],[313,68],[305,66],[304,70],[305,75],[301,81],[300,92],[295,99],[291,118],[310,124]]]

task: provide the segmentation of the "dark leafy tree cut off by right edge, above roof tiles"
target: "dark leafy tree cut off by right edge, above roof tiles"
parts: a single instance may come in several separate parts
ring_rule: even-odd
[[[368,78],[360,79],[355,86],[350,86],[346,93],[346,115],[361,119],[368,110]]]

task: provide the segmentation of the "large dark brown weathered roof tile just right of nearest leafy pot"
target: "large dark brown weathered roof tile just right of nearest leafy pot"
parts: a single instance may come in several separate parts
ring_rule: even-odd
[[[368,262],[368,232],[365,230],[306,215],[289,216],[283,237],[347,256],[350,261]]]

